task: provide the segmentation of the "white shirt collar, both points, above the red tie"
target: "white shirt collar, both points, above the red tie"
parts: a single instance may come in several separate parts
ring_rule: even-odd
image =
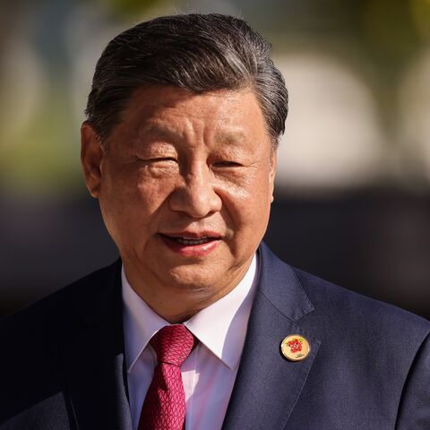
[[[244,348],[246,328],[254,301],[257,273],[257,256],[236,288],[227,296],[205,307],[184,324],[212,354],[234,370]],[[121,271],[124,303],[125,357],[127,371],[148,345],[152,336],[169,323],[156,314],[133,290]]]

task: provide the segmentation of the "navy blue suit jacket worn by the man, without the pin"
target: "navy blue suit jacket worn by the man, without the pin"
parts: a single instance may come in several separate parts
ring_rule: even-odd
[[[430,323],[259,254],[223,429],[430,429]],[[0,324],[0,430],[131,430],[120,268]],[[309,340],[305,360],[281,355],[289,334]]]

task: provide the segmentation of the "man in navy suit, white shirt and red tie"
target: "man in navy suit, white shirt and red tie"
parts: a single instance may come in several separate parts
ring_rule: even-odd
[[[269,54],[216,14],[108,44],[82,167],[121,260],[2,323],[0,429],[430,428],[430,324],[262,244],[288,100]]]

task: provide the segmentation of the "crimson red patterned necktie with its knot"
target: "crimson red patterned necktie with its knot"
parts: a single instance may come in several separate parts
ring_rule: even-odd
[[[185,428],[185,391],[181,366],[197,341],[183,324],[168,325],[150,340],[158,364],[142,406],[139,430]]]

